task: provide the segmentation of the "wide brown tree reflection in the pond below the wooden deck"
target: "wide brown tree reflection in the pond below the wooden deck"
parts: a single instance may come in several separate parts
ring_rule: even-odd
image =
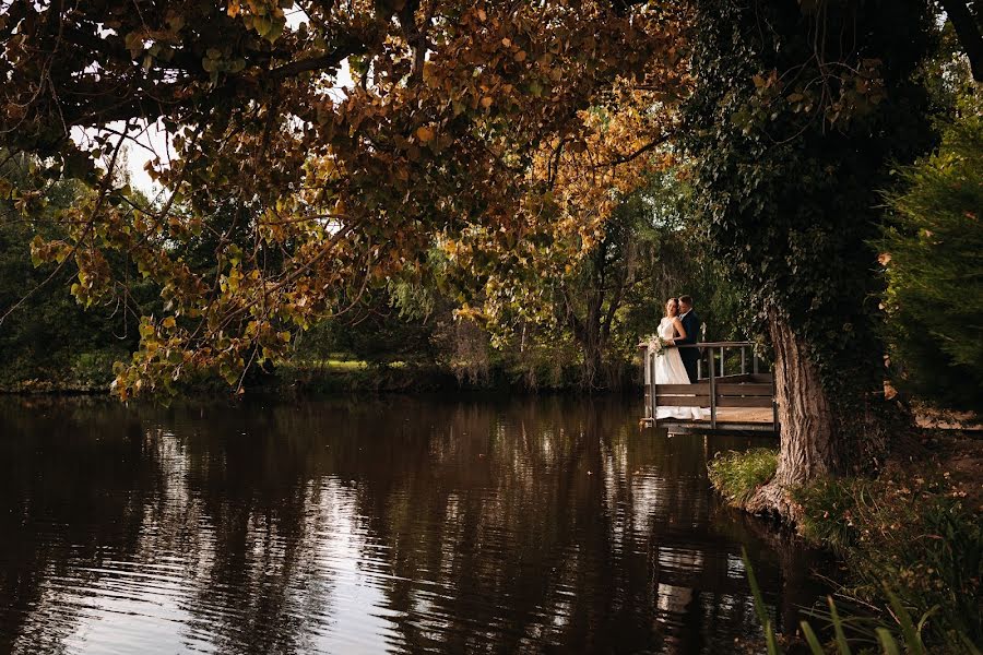
[[[737,555],[750,535],[713,524],[702,440],[640,437],[631,416],[465,406],[433,421],[447,428],[426,453],[402,453],[400,475],[364,476],[360,513],[392,546],[389,593],[411,650],[699,652],[755,631]],[[759,569],[774,587],[775,568]]]

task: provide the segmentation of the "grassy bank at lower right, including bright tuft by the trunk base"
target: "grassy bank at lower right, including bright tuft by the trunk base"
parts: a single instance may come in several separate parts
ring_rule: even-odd
[[[878,629],[909,652],[979,653],[983,643],[983,449],[964,436],[923,437],[920,453],[889,462],[875,479],[792,490],[802,509],[800,534],[833,550],[848,571],[837,598],[842,642],[830,631],[829,652],[845,652],[844,642],[852,652],[890,652],[879,645]],[[773,475],[777,460],[763,449],[723,453],[711,462],[710,478],[741,507]],[[819,614],[814,622],[831,623],[832,610]]]

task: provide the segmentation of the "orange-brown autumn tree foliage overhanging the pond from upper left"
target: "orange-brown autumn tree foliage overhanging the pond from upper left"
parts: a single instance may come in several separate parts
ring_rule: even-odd
[[[616,80],[678,86],[677,11],[629,4],[4,2],[0,145],[42,166],[0,193],[34,221],[46,184],[83,180],[35,258],[75,271],[82,302],[128,298],[114,250],[159,288],[121,395],[240,384],[296,330],[423,265],[436,235],[521,239],[534,153],[579,147],[579,111]],[[147,163],[154,203],[115,175],[149,124],[173,146]]]

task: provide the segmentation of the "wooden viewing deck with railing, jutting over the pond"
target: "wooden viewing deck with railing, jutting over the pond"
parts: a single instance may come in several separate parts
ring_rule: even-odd
[[[700,349],[698,380],[692,384],[655,384],[655,361],[662,354],[648,343],[639,344],[646,378],[643,426],[671,432],[779,433],[774,376],[761,370],[763,365],[755,356],[753,343],[710,342],[679,347]],[[734,372],[727,374],[729,369]],[[660,407],[701,407],[708,416],[656,419]]]

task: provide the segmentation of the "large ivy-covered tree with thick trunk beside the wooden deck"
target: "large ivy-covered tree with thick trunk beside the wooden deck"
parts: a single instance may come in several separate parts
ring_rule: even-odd
[[[751,509],[869,465],[897,407],[884,396],[877,253],[891,162],[931,143],[912,72],[924,0],[698,0],[688,146],[719,257],[775,353],[781,455]]]

